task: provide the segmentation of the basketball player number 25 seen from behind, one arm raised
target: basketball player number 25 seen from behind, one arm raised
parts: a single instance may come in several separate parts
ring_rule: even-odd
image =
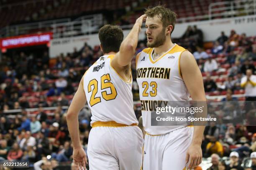
[[[99,31],[104,55],[85,72],[67,113],[73,160],[81,170],[87,158],[79,139],[78,113],[86,100],[92,111],[87,148],[90,170],[141,169],[143,137],[133,110],[130,58],[138,42],[134,35],[145,16],[137,19],[123,42],[117,26],[105,25]]]

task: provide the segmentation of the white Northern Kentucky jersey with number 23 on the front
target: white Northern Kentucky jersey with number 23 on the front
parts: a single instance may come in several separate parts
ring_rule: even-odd
[[[180,126],[151,126],[151,111],[164,101],[188,101],[189,92],[182,79],[179,59],[186,49],[174,44],[154,60],[154,48],[144,49],[136,60],[136,77],[140,91],[143,127],[150,135],[172,132]]]

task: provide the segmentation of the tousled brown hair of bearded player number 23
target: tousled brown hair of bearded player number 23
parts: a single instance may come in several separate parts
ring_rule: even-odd
[[[167,27],[168,25],[173,26],[173,29],[172,29],[172,32],[173,32],[177,14],[174,13],[169,8],[166,8],[162,5],[158,5],[158,6],[152,7],[152,8],[148,7],[145,11],[145,14],[150,18],[154,18],[154,16],[157,15],[159,18],[161,18],[163,27]],[[172,34],[172,32],[171,32],[171,34]]]

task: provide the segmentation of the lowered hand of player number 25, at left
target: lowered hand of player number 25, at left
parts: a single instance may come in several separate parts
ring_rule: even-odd
[[[85,170],[85,165],[87,164],[87,155],[84,149],[81,148],[74,148],[73,150],[73,161],[74,164],[77,165],[77,170]]]

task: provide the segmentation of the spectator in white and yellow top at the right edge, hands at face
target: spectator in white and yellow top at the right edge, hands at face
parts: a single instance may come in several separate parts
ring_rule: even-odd
[[[256,101],[256,75],[251,69],[246,70],[246,76],[241,79],[241,87],[245,88],[246,101]]]

